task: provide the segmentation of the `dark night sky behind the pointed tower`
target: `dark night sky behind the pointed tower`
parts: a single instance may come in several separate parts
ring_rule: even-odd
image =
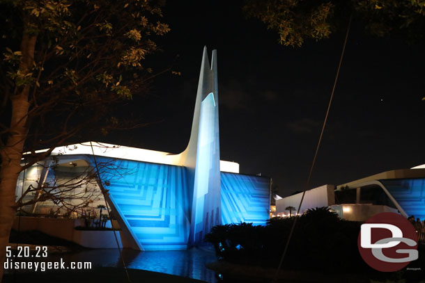
[[[229,6],[232,3],[233,6]],[[173,65],[135,100],[150,125],[109,142],[179,153],[192,127],[203,46],[217,49],[221,159],[272,177],[281,195],[304,188],[334,83],[343,34],[284,47],[245,19],[242,1],[168,1],[171,32],[148,61]],[[378,39],[354,19],[311,186],[342,184],[425,163],[424,44]]]

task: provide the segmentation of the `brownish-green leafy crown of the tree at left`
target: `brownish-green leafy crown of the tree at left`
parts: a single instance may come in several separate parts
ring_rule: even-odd
[[[44,124],[30,129],[30,136],[38,135],[34,143],[40,136],[49,144],[72,136],[82,128],[73,121],[96,124],[93,129],[103,133],[130,127],[110,124],[109,111],[148,90],[153,70],[145,60],[158,50],[155,40],[170,30],[161,22],[160,5],[155,0],[0,1],[6,46],[0,88],[9,99],[29,88],[29,124]],[[31,49],[25,37],[36,42],[33,58],[22,58],[22,51]],[[32,67],[23,68],[24,60]],[[57,125],[45,124],[59,122],[58,116],[65,129],[52,133]]]

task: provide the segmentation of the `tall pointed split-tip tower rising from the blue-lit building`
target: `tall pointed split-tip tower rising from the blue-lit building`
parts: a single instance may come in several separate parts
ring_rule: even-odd
[[[180,158],[188,169],[187,184],[193,188],[189,243],[201,243],[211,227],[222,223],[217,50],[212,51],[210,66],[203,48],[192,131]]]

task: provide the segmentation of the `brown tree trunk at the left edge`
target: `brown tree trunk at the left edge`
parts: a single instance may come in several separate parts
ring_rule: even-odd
[[[36,35],[24,31],[22,35],[22,60],[20,72],[28,73],[33,67]],[[10,229],[15,220],[15,191],[17,178],[21,171],[21,158],[27,135],[26,119],[29,110],[30,86],[16,87],[12,100],[12,117],[10,133],[6,145],[0,149],[0,282],[3,277],[3,263],[6,260],[6,245],[8,245]]]

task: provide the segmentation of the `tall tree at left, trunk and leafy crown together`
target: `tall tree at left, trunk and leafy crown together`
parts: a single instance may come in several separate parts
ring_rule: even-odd
[[[153,70],[145,58],[157,49],[160,1],[0,1],[0,250],[4,261],[22,170],[84,130],[106,134],[129,127],[111,116],[121,102],[142,95]],[[46,152],[36,149],[48,147]],[[21,165],[22,153],[31,159]],[[0,268],[3,275],[3,266]]]

